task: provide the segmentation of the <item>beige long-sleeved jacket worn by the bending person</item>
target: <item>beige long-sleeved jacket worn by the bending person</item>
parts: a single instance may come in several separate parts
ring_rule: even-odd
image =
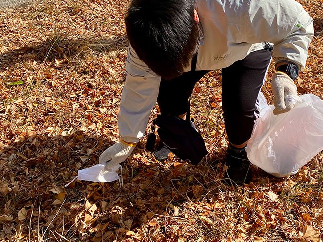
[[[273,58],[305,66],[313,38],[313,19],[294,0],[197,0],[203,29],[196,70],[216,70],[242,60],[251,51],[274,44]],[[190,70],[190,66],[187,70]],[[129,47],[126,83],[120,113],[120,136],[128,142],[143,137],[151,109],[156,103],[160,76]]]

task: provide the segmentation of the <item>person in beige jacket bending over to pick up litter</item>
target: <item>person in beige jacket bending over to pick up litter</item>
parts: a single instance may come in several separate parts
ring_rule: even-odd
[[[225,176],[237,184],[249,182],[246,143],[270,61],[273,57],[276,70],[274,113],[288,112],[294,104],[286,96],[297,95],[294,81],[306,63],[313,19],[294,0],[132,0],[125,24],[129,48],[121,139],[99,162],[114,166],[131,154],[156,100],[161,114],[185,119],[194,85],[221,69],[229,141]]]

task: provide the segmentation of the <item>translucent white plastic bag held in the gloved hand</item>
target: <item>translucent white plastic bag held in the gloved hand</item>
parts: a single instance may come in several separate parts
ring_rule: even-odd
[[[250,162],[276,177],[296,174],[323,150],[323,101],[305,94],[295,102],[291,111],[274,115],[260,96],[260,117],[247,143]]]

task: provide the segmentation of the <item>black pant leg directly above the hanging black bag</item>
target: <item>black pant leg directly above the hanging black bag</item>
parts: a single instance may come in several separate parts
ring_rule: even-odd
[[[178,116],[186,113],[195,84],[208,72],[189,71],[172,80],[161,79],[157,97],[161,114]]]

